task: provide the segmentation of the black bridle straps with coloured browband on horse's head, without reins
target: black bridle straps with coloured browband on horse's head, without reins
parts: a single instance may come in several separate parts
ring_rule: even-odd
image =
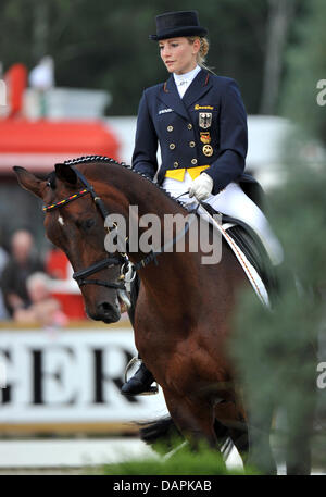
[[[103,200],[101,199],[101,197],[99,197],[96,194],[93,187],[88,183],[88,181],[86,179],[84,174],[74,167],[72,167],[72,169],[75,171],[77,177],[80,179],[80,182],[83,183],[85,188],[83,188],[77,194],[72,195],[71,197],[60,200],[59,202],[55,202],[55,203],[52,203],[49,206],[45,206],[42,208],[43,212],[49,212],[49,211],[52,211],[53,209],[63,208],[67,203],[72,202],[74,200],[77,200],[78,198],[84,197],[85,195],[90,195],[95,204],[97,206],[98,210],[100,211],[103,220],[105,221],[109,215],[109,212],[104,206]],[[116,224],[115,223],[112,223],[112,224],[113,224],[113,227],[115,228]],[[106,225],[105,225],[105,227],[106,227],[109,234],[112,235],[111,228]],[[124,283],[111,283],[111,282],[105,282],[103,279],[87,279],[87,278],[88,278],[88,276],[91,276],[92,274],[96,274],[99,271],[102,271],[105,268],[109,268],[110,265],[121,265],[120,279],[124,281],[125,279],[124,272],[128,268],[128,263],[129,263],[129,260],[127,258],[127,254],[118,252],[116,256],[110,256],[105,259],[102,259],[99,262],[96,262],[95,264],[89,265],[85,270],[75,272],[73,274],[73,278],[78,283],[79,287],[83,285],[100,285],[100,286],[105,286],[106,288],[115,288],[115,289],[124,290],[125,289]]]

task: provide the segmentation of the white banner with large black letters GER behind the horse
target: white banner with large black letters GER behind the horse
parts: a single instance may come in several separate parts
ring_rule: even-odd
[[[68,328],[54,335],[1,330],[0,430],[5,423],[128,422],[165,415],[161,389],[155,396],[121,395],[125,366],[135,355],[128,327]]]

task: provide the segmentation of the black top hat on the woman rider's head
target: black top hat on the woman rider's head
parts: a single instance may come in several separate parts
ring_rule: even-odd
[[[175,38],[179,36],[205,36],[208,30],[200,26],[197,11],[166,12],[156,15],[156,35],[150,39]]]

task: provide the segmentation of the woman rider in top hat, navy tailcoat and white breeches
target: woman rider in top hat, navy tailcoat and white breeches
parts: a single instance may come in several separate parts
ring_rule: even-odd
[[[206,33],[197,11],[156,16],[156,35],[150,39],[159,41],[171,76],[143,91],[133,169],[151,179],[158,173],[158,183],[184,202],[191,203],[195,197],[249,224],[276,265],[283,259],[281,247],[263,212],[243,191],[253,192],[258,187],[243,174],[248,145],[244,105],[234,79],[216,76],[204,66]],[[181,196],[185,191],[188,195]],[[152,381],[142,363],[122,393],[143,393]]]

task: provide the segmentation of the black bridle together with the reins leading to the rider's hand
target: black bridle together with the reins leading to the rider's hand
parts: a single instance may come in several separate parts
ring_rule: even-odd
[[[75,171],[76,175],[78,176],[78,178],[80,179],[80,182],[83,183],[85,188],[82,189],[80,191],[72,195],[71,197],[67,197],[66,199],[60,200],[60,201],[58,201],[55,203],[51,203],[49,206],[45,206],[42,208],[42,211],[43,212],[50,212],[53,209],[59,209],[59,208],[65,207],[67,203],[72,202],[74,200],[77,200],[78,198],[84,197],[85,195],[90,195],[92,200],[93,200],[93,202],[96,203],[97,208],[99,209],[103,220],[105,221],[106,216],[109,215],[109,212],[108,212],[108,210],[106,210],[106,208],[104,206],[103,200],[101,199],[101,197],[99,197],[96,194],[93,187],[89,184],[89,182],[86,179],[84,174],[80,173],[80,171],[76,170],[75,167],[72,167],[72,169]],[[181,194],[181,195],[185,195],[185,194]],[[181,196],[179,196],[179,197],[181,197]],[[192,221],[187,222],[186,225],[185,225],[184,231],[181,233],[177,234],[171,241],[168,241],[167,244],[162,246],[159,250],[156,250],[155,252],[151,251],[141,261],[133,264],[131,268],[133,268],[134,274],[133,274],[133,276],[130,277],[129,281],[125,279],[125,275],[128,272],[128,266],[129,266],[129,259],[128,259],[126,253],[118,253],[118,256],[112,256],[112,257],[103,259],[103,260],[101,260],[99,262],[96,262],[95,264],[89,265],[85,270],[80,270],[80,271],[75,272],[73,274],[73,278],[78,283],[79,286],[83,286],[83,285],[100,285],[100,286],[105,286],[108,288],[126,289],[125,284],[129,284],[129,283],[133,282],[133,279],[136,276],[137,271],[139,271],[140,269],[143,269],[146,265],[148,265],[152,261],[154,261],[155,265],[159,264],[158,260],[156,260],[156,257],[160,256],[160,253],[164,253],[164,251],[167,248],[173,247],[179,238],[185,236],[186,233],[189,229],[189,226],[190,226],[191,222]],[[116,224],[115,223],[113,223],[113,228],[116,228]],[[112,232],[111,232],[109,226],[106,227],[106,229],[108,229],[109,234],[111,235]],[[92,274],[96,274],[99,271],[102,271],[103,269],[109,268],[110,265],[121,265],[120,279],[124,281],[124,283],[118,284],[118,283],[105,282],[105,281],[102,281],[102,279],[86,279],[88,276],[91,276]]]

